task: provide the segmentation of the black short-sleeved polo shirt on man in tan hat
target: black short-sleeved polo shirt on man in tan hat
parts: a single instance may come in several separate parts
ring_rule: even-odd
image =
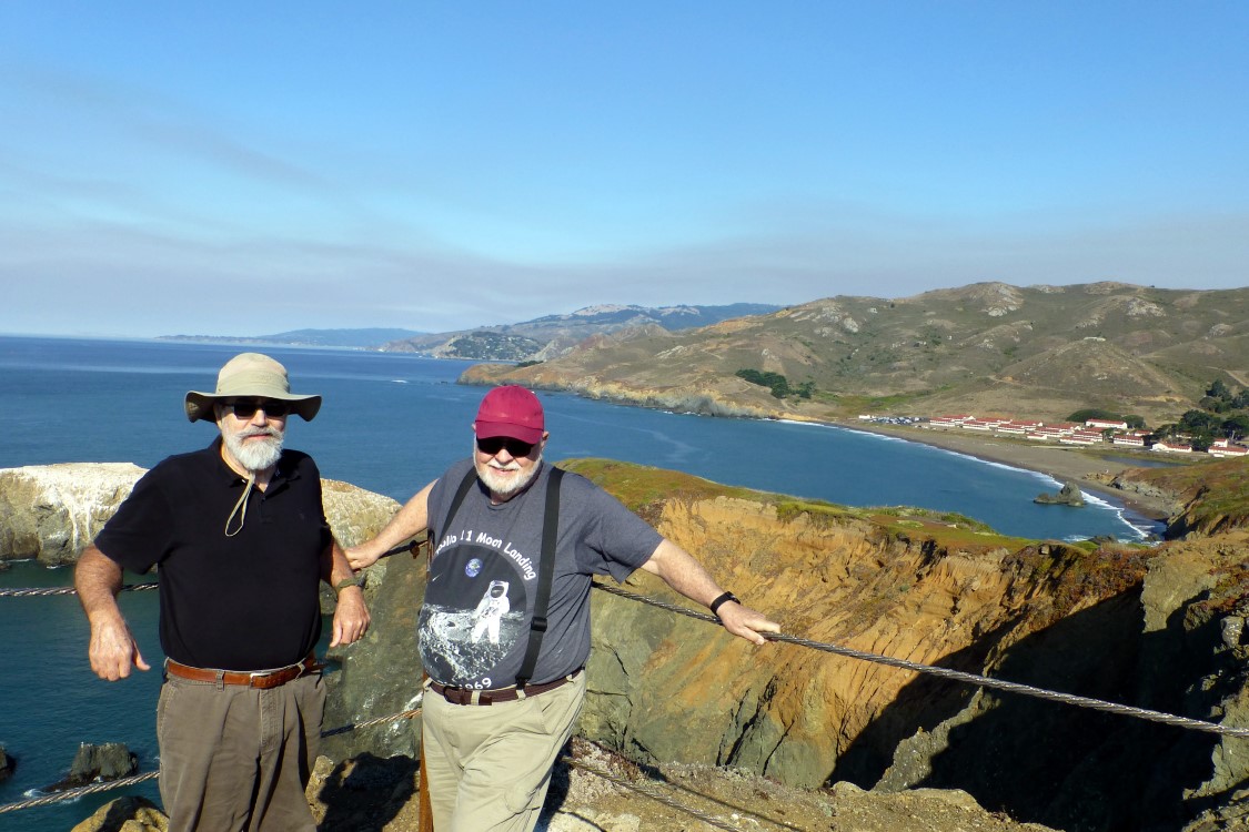
[[[266,489],[249,495],[242,530],[227,538],[245,485],[217,437],[147,472],[95,539],[131,571],[159,566],[161,647],[184,665],[281,667],[321,637],[321,555],[332,538],[316,463],[284,450]],[[231,531],[237,524],[236,515]]]

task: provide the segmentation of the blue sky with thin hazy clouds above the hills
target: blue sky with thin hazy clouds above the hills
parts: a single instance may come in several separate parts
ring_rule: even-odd
[[[1249,4],[0,4],[0,332],[1249,286]]]

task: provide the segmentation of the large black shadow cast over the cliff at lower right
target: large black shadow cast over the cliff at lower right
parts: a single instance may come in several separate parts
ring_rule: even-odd
[[[1123,593],[1028,635],[1005,649],[993,676],[1208,720],[1227,694],[1210,681],[1215,622],[1185,626],[1199,600],[1192,599],[1165,630],[1143,634],[1139,597]],[[937,690],[924,680],[911,687]],[[896,707],[914,696],[908,691]],[[882,715],[892,732],[904,720]],[[939,726],[916,721],[913,728],[878,791],[962,788],[989,811],[1069,832],[1175,831],[1230,793],[1220,787],[1204,805],[1189,802],[1212,777],[1214,735],[1125,715],[982,689]],[[847,755],[847,765],[853,760]],[[838,777],[849,773],[839,763],[834,778],[873,772],[861,766],[856,777]]]

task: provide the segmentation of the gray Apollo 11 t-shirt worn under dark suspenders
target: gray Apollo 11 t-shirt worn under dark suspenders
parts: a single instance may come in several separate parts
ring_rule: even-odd
[[[447,523],[472,460],[452,465],[430,491],[430,526],[438,534],[417,632],[425,671],[461,687],[516,682],[528,646],[542,558],[550,465],[512,499],[491,505],[475,480]],[[590,656],[590,581],[618,581],[644,564],[662,538],[612,495],[577,474],[560,484],[560,531],[547,631],[532,684],[566,676]]]

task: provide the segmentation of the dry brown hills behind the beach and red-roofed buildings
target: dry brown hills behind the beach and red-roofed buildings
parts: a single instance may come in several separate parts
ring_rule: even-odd
[[[776,398],[738,370],[776,374],[809,398]],[[1249,385],[1249,288],[977,283],[834,297],[699,329],[622,329],[537,365],[466,375],[726,415],[1060,419],[1093,407],[1158,424],[1214,379]]]

